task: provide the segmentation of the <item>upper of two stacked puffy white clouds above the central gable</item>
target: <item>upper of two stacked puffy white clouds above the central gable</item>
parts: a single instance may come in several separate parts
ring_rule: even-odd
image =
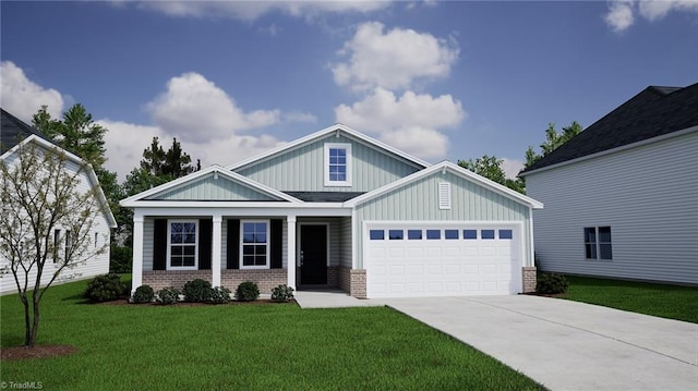
[[[458,53],[453,39],[402,28],[384,34],[383,24],[368,22],[339,51],[348,61],[330,66],[335,83],[354,90],[409,88],[418,78],[448,76]]]

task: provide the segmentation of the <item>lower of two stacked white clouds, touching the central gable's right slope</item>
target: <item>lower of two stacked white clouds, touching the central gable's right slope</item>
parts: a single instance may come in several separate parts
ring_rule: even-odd
[[[352,106],[335,108],[338,122],[371,133],[377,138],[420,158],[443,158],[448,137],[440,129],[458,126],[466,112],[450,95],[432,97],[375,88]]]

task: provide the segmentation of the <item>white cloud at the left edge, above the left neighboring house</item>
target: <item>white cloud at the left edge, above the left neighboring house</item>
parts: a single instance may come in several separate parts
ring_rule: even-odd
[[[0,101],[2,108],[26,123],[47,106],[49,114],[60,118],[63,110],[63,97],[53,88],[44,88],[29,81],[24,71],[12,61],[0,63]]]

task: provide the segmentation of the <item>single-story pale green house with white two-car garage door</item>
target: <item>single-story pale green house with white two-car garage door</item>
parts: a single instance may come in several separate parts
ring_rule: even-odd
[[[534,290],[542,204],[454,163],[429,164],[337,124],[121,201],[133,288],[205,279],[356,297]]]

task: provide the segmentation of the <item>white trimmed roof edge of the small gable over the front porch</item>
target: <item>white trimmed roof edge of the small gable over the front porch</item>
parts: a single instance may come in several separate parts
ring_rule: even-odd
[[[191,183],[193,181],[196,181],[203,176],[206,176],[210,173],[216,173],[219,174],[221,176],[225,176],[231,181],[241,183],[243,186],[252,188],[256,192],[260,192],[262,194],[267,194],[269,196],[272,196],[273,198],[277,198],[278,200],[281,201],[289,201],[289,203],[301,203],[301,200],[299,200],[298,198],[294,198],[286,193],[279,192],[275,188],[272,188],[269,186],[266,186],[262,183],[258,183],[256,181],[253,181],[246,176],[240,175],[237,172],[232,172],[229,171],[227,169],[225,169],[224,167],[220,167],[218,164],[213,164],[206,169],[193,172],[189,175],[182,176],[182,178],[178,178],[173,181],[164,183],[159,186],[153,187],[148,191],[139,193],[136,195],[133,195],[131,197],[128,197],[125,199],[122,199],[120,201],[121,206],[123,207],[136,207],[136,206],[141,206],[143,201],[148,203],[148,205],[154,205],[153,201],[157,203],[157,199],[152,199],[153,197],[156,197],[158,194],[165,194],[170,192],[171,190],[181,186],[183,184],[186,183]],[[149,198],[149,199],[148,199]]]

